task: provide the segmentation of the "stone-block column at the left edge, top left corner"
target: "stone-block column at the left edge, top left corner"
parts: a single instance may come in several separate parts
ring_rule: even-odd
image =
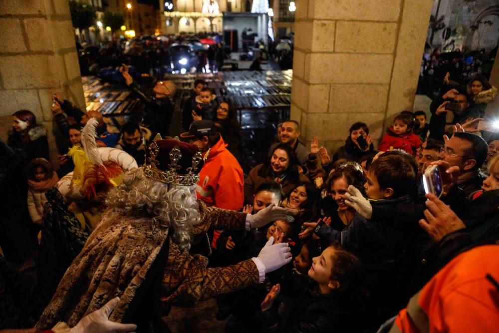
[[[30,110],[47,129],[57,165],[51,94],[59,92],[85,110],[68,1],[1,0],[0,31],[0,137],[6,140],[12,113]]]

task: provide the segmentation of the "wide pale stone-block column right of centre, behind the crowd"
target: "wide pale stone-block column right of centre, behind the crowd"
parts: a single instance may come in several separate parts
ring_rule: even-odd
[[[393,116],[412,110],[432,0],[298,0],[291,118],[307,143],[335,150],[350,125],[375,146]]]

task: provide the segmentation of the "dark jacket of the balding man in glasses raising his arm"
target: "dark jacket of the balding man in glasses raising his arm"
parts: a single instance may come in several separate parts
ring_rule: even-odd
[[[146,105],[145,115],[142,124],[152,132],[152,137],[157,133],[168,136],[170,123],[173,116],[173,104],[169,97],[155,98],[146,95],[141,87],[132,82],[129,88],[137,94],[137,97]]]

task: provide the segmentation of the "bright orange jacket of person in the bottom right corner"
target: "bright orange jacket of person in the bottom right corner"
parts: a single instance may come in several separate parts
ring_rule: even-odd
[[[466,251],[414,295],[390,333],[497,332],[499,246]]]

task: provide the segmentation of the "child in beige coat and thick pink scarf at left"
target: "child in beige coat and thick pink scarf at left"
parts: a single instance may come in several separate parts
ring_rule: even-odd
[[[28,211],[33,223],[42,224],[43,205],[47,202],[45,192],[55,186],[59,177],[53,171],[50,162],[44,158],[35,158],[26,166],[28,177]]]

